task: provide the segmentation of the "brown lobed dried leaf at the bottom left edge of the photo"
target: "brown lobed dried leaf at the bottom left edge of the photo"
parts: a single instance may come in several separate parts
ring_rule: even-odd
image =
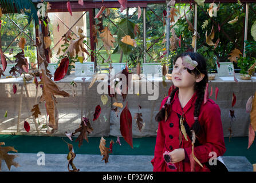
[[[18,152],[16,149],[10,146],[3,147],[2,145],[5,145],[5,142],[0,142],[0,170],[2,160],[5,160],[5,163],[8,167],[8,169],[11,169],[11,165],[15,166],[16,168],[19,166],[17,162],[14,161],[14,158],[17,157],[17,155],[10,155],[8,154],[9,151]]]

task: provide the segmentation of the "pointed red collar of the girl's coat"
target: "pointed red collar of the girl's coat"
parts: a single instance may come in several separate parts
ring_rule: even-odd
[[[193,94],[193,96],[190,98],[190,100],[187,102],[186,106],[184,106],[183,109],[182,106],[180,105],[178,94],[179,90],[176,91],[174,95],[174,100],[172,100],[171,102],[172,110],[180,115],[182,115],[183,113],[186,114],[187,111],[191,108],[191,106],[195,104],[195,100],[197,98],[196,92]]]

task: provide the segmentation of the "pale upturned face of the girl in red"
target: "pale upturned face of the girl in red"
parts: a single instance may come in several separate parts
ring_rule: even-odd
[[[188,73],[187,67],[182,65],[182,58],[179,57],[172,70],[172,82],[174,83],[174,86],[179,88],[190,88],[194,87],[196,81],[195,74]]]

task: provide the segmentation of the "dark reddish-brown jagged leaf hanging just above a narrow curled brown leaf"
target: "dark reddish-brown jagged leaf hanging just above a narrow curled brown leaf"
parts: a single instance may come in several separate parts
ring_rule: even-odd
[[[90,125],[89,119],[84,118],[83,121],[81,122],[79,128],[74,130],[74,133],[73,133],[73,134],[76,134],[76,133],[80,132],[79,136],[76,139],[76,142],[79,141],[79,143],[78,143],[79,148],[82,145],[83,140],[86,140],[87,142],[89,142],[87,133],[88,134],[92,133],[92,131],[93,131],[93,128]]]

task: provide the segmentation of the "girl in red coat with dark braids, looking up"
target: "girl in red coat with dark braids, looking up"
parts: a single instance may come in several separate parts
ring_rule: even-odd
[[[176,87],[155,117],[159,124],[153,171],[208,172],[207,162],[222,156],[226,148],[219,106],[211,99],[204,102],[206,60],[198,53],[177,55],[172,82]]]

